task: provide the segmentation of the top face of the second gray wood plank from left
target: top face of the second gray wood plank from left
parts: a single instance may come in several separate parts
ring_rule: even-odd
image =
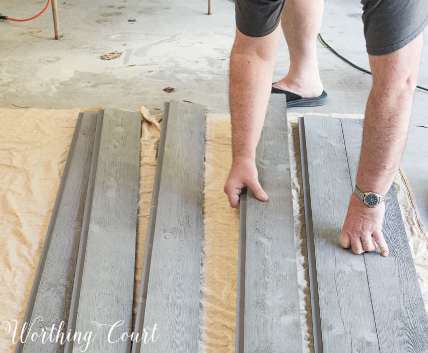
[[[104,111],[76,320],[77,332],[93,332],[91,352],[127,349],[121,335],[131,325],[140,128],[137,113]],[[76,340],[73,352],[83,345]]]

